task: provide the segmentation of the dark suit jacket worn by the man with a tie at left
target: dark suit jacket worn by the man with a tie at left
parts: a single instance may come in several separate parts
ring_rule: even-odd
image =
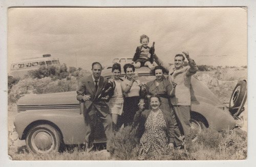
[[[81,79],[81,85],[77,90],[77,100],[83,103],[83,114],[93,114],[99,111],[103,116],[110,113],[108,105],[101,100],[100,95],[103,88],[106,86],[107,80],[100,76],[98,89],[96,91],[93,77],[90,75],[87,78]],[[82,97],[84,94],[90,94],[91,100],[84,102]]]

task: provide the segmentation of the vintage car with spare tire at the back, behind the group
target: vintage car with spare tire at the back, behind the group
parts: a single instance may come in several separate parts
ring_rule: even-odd
[[[140,81],[146,83],[155,76],[147,67],[136,69]],[[110,78],[111,69],[102,71]],[[121,74],[124,77],[124,73]],[[167,75],[166,75],[167,77]],[[218,131],[236,127],[236,118],[246,101],[246,80],[240,80],[232,93],[229,107],[225,106],[197,78],[191,79],[191,127],[215,127]],[[76,92],[26,94],[18,100],[14,126],[19,139],[26,139],[28,149],[35,153],[58,151],[59,146],[84,144],[84,119]],[[94,143],[106,142],[102,125],[97,124]]]

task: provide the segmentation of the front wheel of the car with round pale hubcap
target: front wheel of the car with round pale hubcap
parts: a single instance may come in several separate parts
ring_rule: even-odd
[[[50,125],[36,125],[28,132],[26,145],[30,152],[37,154],[58,152],[60,134]]]

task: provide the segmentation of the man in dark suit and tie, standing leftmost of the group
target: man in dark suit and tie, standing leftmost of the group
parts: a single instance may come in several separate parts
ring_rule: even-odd
[[[81,79],[81,85],[77,90],[77,100],[84,104],[83,115],[86,124],[86,147],[89,152],[93,148],[91,132],[98,120],[101,121],[104,127],[106,138],[109,139],[112,133],[112,117],[108,105],[105,103],[104,97],[100,94],[105,87],[107,80],[100,76],[102,66],[99,62],[92,64],[93,74],[87,78]],[[108,145],[106,146],[108,149]]]

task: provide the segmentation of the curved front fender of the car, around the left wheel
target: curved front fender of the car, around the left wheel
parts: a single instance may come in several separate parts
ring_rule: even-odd
[[[26,121],[25,121],[26,120]],[[27,110],[19,112],[14,120],[17,133],[20,139],[25,139],[28,130],[36,124],[54,124],[60,130],[65,144],[81,144],[85,142],[83,115],[79,109],[69,110]],[[52,126],[54,126],[52,125]]]

